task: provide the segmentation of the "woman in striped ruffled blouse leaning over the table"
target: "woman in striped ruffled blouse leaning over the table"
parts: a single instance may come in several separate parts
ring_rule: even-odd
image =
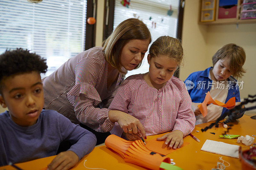
[[[86,129],[94,133],[109,132],[117,122],[124,132],[136,129],[133,133],[139,131],[145,137],[138,119],[109,110],[108,106],[127,70],[140,66],[150,42],[150,32],[142,21],[124,20],[103,41],[103,47],[93,47],[70,58],[42,80],[44,109],[56,110],[71,122],[88,126]],[[103,136],[96,133],[97,144],[104,142]]]

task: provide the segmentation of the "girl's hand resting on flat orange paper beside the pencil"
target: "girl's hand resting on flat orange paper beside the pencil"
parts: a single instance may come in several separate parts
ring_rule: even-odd
[[[156,138],[158,141],[163,141],[166,139],[165,144],[167,145],[170,141],[169,146],[173,147],[173,149],[180,148],[181,145],[183,144],[183,132],[180,130],[174,130],[170,133],[165,134],[162,137]]]

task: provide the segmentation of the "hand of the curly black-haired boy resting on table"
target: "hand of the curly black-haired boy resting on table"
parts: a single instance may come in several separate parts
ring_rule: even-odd
[[[79,161],[78,156],[73,151],[60,152],[48,165],[47,170],[66,170],[70,169]]]

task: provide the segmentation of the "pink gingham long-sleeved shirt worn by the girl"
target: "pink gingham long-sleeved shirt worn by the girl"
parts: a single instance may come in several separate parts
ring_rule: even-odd
[[[191,98],[184,82],[176,77],[157,90],[146,83],[143,74],[132,75],[119,86],[109,109],[139,119],[147,136],[170,130],[180,130],[186,136],[195,128]],[[110,133],[124,138],[118,123]]]

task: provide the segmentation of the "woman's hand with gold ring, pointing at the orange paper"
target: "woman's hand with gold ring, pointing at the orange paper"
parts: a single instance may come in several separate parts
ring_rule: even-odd
[[[142,124],[132,115],[118,110],[110,110],[108,117],[111,122],[117,122],[125,133],[133,133],[137,134],[139,137],[146,137],[146,132]]]

